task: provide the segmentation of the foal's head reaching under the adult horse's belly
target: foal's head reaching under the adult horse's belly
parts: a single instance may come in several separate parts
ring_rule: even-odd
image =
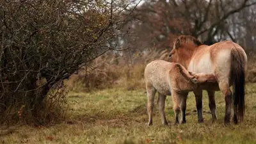
[[[191,76],[192,83],[195,84],[204,84],[204,83],[216,83],[216,77],[213,74],[204,74],[204,73],[195,73],[195,72],[189,72]]]

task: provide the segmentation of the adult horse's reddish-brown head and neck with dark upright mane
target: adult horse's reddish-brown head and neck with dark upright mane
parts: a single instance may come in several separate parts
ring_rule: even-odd
[[[189,61],[196,47],[200,45],[203,45],[203,43],[193,36],[179,36],[174,42],[172,51],[169,53],[169,61],[181,63],[186,67],[186,62]]]

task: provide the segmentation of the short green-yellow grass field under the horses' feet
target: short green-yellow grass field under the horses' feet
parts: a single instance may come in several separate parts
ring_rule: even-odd
[[[169,126],[154,109],[147,126],[145,90],[113,88],[68,94],[68,118],[51,127],[1,129],[0,143],[256,143],[256,84],[246,84],[246,115],[240,125],[223,125],[225,101],[216,93],[218,122],[212,124],[204,92],[204,124],[197,123],[195,97],[189,93],[187,123],[174,125],[172,97],[166,99]],[[155,101],[156,102],[156,101]]]

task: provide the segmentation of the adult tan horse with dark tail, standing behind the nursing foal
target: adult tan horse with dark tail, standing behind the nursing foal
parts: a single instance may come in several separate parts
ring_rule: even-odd
[[[170,52],[170,61],[183,65],[191,72],[213,73],[218,83],[205,84],[193,92],[196,97],[196,109],[198,122],[204,122],[202,115],[202,90],[207,90],[209,97],[209,108],[212,113],[212,120],[217,119],[215,91],[221,91],[225,97],[225,124],[230,123],[233,106],[235,124],[243,120],[244,116],[244,73],[247,65],[247,56],[243,48],[229,40],[218,42],[212,45],[205,45],[193,36],[181,35],[173,45]],[[238,118],[237,118],[238,116]]]

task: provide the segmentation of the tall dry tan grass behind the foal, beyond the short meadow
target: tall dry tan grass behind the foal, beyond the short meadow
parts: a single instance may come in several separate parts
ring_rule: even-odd
[[[93,67],[87,67],[87,72],[81,70],[72,75],[67,84],[76,92],[90,92],[116,86],[125,87],[127,90],[144,88],[144,69],[147,63],[153,60],[168,60],[168,52],[170,51],[154,49],[148,53],[134,53],[131,58],[104,54],[90,64]],[[246,82],[256,82],[255,62],[255,53],[248,54]]]

